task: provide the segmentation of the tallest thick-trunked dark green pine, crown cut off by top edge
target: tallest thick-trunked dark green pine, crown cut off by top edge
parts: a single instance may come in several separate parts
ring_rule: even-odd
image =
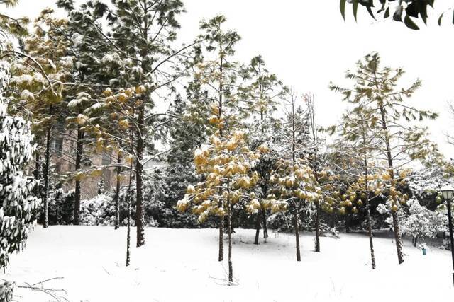
[[[171,84],[182,74],[179,70],[180,55],[194,44],[185,45],[179,50],[171,47],[179,28],[177,16],[184,11],[179,0],[112,1],[111,6],[101,1],[89,1],[87,6],[93,7],[100,18],[106,16],[108,20],[109,35],[104,35],[104,40],[109,43],[111,50],[104,55],[103,62],[124,64],[121,69],[111,69],[109,83],[112,88],[126,90],[147,87],[136,95],[137,117],[133,122],[136,128],[135,225],[137,246],[140,247],[145,244],[143,165],[150,160],[146,158],[146,152],[153,151],[153,144],[148,143],[153,140],[148,138],[155,135],[155,127],[160,124],[152,109],[160,93],[172,92]],[[145,124],[150,127],[145,127]]]

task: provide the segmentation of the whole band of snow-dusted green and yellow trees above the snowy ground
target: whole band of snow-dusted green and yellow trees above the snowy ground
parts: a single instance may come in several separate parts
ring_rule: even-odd
[[[353,1],[355,14],[358,4],[370,8],[366,2]],[[255,244],[261,229],[265,240],[269,228],[292,231],[297,261],[302,230],[314,231],[321,252],[324,234],[365,229],[372,269],[374,228],[392,228],[399,263],[402,233],[416,245],[443,229],[437,187],[421,190],[453,171],[419,124],[437,115],[411,105],[421,82],[401,88],[404,71],[382,66],[379,54],[347,72],[350,86],[331,83],[350,106],[341,122],[321,129],[313,94],[285,86],[260,55],[238,62],[240,35],[225,28],[225,16],[201,21],[199,35],[178,45],[182,1],[57,6],[67,16],[47,8],[31,33],[26,19],[0,15],[7,37],[0,50],[0,196],[7,201],[0,219],[9,238],[1,240],[0,267],[38,216],[45,228],[127,226],[127,265],[131,226],[138,248],[146,226],[218,228],[219,261],[228,243],[229,284],[237,227],[254,228]],[[73,142],[65,154],[52,150],[59,135]],[[104,152],[114,154],[113,163],[83,164]],[[55,175],[52,156],[72,170]],[[412,170],[416,161],[432,170]],[[26,165],[33,173],[22,173]],[[82,180],[112,168],[115,187],[105,192],[100,183],[98,196],[82,200]],[[421,177],[428,171],[431,178]]]

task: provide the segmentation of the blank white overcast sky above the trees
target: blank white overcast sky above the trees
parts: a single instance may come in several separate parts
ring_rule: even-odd
[[[82,1],[82,0],[81,0]],[[35,18],[54,0],[21,0],[10,10],[13,16]],[[454,147],[446,143],[445,133],[454,133],[454,119],[447,103],[454,101],[454,25],[451,16],[436,25],[431,11],[430,24],[421,30],[409,30],[402,24],[375,22],[360,13],[355,23],[350,11],[344,22],[338,0],[184,0],[187,13],[179,17],[179,39],[190,42],[199,33],[199,21],[223,13],[228,27],[243,38],[237,59],[248,62],[262,54],[268,69],[287,86],[316,96],[317,122],[323,126],[336,123],[345,109],[340,95],[329,91],[330,81],[345,82],[346,69],[368,52],[377,51],[387,66],[404,67],[403,84],[419,78],[423,87],[411,102],[421,109],[439,112],[436,122],[427,122],[432,139],[445,156],[454,157]],[[437,0],[449,5],[453,1]],[[453,129],[453,131],[451,130]]]

